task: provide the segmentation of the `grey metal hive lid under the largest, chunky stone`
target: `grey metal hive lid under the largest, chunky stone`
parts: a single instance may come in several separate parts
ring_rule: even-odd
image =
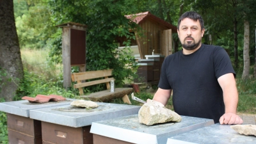
[[[165,124],[140,124],[138,115],[93,122],[90,132],[130,143],[166,144],[170,136],[214,124],[213,120],[182,116],[182,121]]]

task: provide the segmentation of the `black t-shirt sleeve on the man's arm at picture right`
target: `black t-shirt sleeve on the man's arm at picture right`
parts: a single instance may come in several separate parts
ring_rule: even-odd
[[[219,77],[232,73],[234,74],[234,77],[236,77],[236,72],[234,71],[234,68],[232,67],[231,60],[222,47],[218,47],[214,51],[214,69],[215,69],[215,76],[218,79]]]

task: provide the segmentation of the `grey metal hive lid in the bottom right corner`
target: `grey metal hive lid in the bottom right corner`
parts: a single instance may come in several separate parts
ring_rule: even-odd
[[[255,144],[256,136],[246,136],[239,134],[230,128],[230,125],[214,124],[209,127],[196,129],[195,131],[186,132],[177,136],[168,138],[167,144],[175,141],[182,141],[184,144],[189,143],[207,143],[207,144],[229,144],[229,143],[246,143]]]

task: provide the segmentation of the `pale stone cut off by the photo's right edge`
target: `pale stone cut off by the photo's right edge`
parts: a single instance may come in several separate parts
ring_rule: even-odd
[[[256,136],[256,125],[230,125],[239,134]]]

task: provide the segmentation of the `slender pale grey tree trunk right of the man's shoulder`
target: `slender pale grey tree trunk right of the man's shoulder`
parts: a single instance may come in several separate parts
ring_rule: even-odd
[[[249,21],[244,20],[244,70],[242,79],[247,79],[250,76],[250,26]]]

